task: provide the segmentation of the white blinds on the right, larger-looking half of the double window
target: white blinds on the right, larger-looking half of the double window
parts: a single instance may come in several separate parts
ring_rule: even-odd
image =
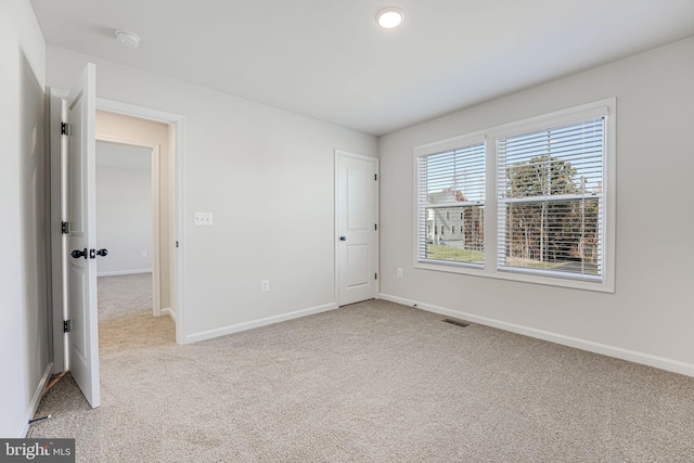
[[[497,140],[498,268],[603,276],[605,120]]]

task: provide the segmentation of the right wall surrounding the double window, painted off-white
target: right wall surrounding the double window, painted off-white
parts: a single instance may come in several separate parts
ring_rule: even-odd
[[[383,137],[382,293],[694,375],[693,82],[694,38]],[[615,294],[413,268],[414,146],[609,97],[617,98]]]

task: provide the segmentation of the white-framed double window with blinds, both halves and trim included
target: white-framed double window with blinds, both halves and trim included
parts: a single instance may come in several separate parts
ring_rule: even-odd
[[[613,292],[614,108],[604,100],[416,147],[415,266]]]

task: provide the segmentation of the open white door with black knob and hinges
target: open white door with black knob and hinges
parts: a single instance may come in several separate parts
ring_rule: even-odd
[[[64,102],[67,364],[92,408],[101,404],[97,320],[97,67],[88,64]],[[104,254],[104,253],[100,253]]]

